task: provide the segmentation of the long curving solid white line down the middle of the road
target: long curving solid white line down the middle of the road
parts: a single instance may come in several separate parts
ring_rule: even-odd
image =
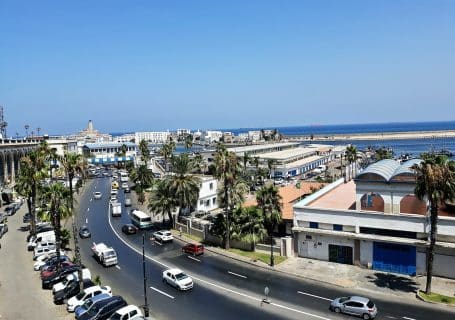
[[[114,234],[117,236],[117,238],[122,241],[127,247],[129,247],[131,250],[135,251],[137,254],[139,255],[142,255],[142,250],[138,250],[136,249],[135,247],[133,247],[132,245],[130,245],[125,239],[123,239],[117,231],[115,231],[114,229],[114,226],[112,225],[112,221],[111,221],[111,215],[109,214],[109,209],[107,211],[107,216],[108,216],[108,221],[109,221],[109,226],[111,227],[112,231],[114,232]],[[156,264],[159,264],[161,266],[163,266],[164,268],[166,269],[170,269],[172,268],[172,266],[170,265],[167,265],[159,260],[156,260],[154,258],[152,258],[151,256],[148,256],[148,255],[145,255],[145,257],[147,259],[149,259],[150,261],[153,261],[155,262]],[[258,303],[261,303],[263,298],[260,297],[254,297],[254,296],[250,296],[246,293],[243,293],[243,292],[240,292],[240,291],[235,291],[235,290],[232,290],[232,289],[229,289],[229,288],[226,288],[226,287],[223,287],[223,286],[220,286],[216,283],[213,283],[213,282],[209,282],[207,280],[204,280],[202,278],[199,278],[199,277],[195,277],[195,276],[191,276],[193,278],[193,280],[197,280],[198,282],[201,282],[201,283],[205,283],[206,285],[208,286],[212,286],[212,287],[215,287],[215,288],[218,288],[220,290],[224,290],[226,292],[230,292],[230,293],[233,293],[233,294],[236,294],[238,296],[241,296],[241,297],[244,297],[244,298],[248,298],[250,300],[253,300],[253,301],[256,301]],[[152,288],[150,287],[151,289],[153,290],[156,290],[158,291],[157,289],[155,288]],[[158,291],[160,292],[160,291]],[[166,294],[167,295],[167,294]],[[172,298],[173,299],[173,298]],[[293,312],[296,312],[296,313],[300,313],[300,314],[304,314],[304,315],[307,315],[307,316],[311,316],[311,317],[314,317],[314,318],[317,318],[317,319],[322,319],[322,320],[330,320],[330,318],[325,318],[325,317],[322,317],[322,316],[318,316],[317,314],[313,314],[313,313],[309,313],[309,312],[305,312],[305,311],[301,311],[301,310],[297,310],[297,309],[294,309],[294,308],[290,308],[290,307],[287,307],[287,306],[284,306],[284,305],[281,305],[281,304],[277,304],[277,303],[270,303],[270,305],[273,305],[277,308],[281,308],[281,309],[286,309],[286,310],[289,310],[289,311],[293,311]]]

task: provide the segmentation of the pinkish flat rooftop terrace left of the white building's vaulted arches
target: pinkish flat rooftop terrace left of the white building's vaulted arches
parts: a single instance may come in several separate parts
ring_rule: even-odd
[[[313,200],[307,206],[324,209],[355,209],[356,191],[354,181],[342,183],[335,189]]]

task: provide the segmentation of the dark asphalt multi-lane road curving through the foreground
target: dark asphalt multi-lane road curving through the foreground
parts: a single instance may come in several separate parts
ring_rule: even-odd
[[[92,198],[94,191],[102,199]],[[123,207],[122,217],[109,215],[110,178],[91,180],[82,195],[78,223],[88,224],[91,239],[81,240],[83,263],[92,275],[100,275],[103,283],[113,287],[114,294],[129,303],[144,303],[142,276],[142,232],[126,236],[121,226],[129,223],[130,208]],[[119,201],[124,193],[119,190]],[[160,244],[146,234],[145,253],[147,297],[152,314],[158,319],[351,319],[351,316],[330,312],[330,300],[356,292],[329,287],[293,276],[250,266],[206,252],[194,258],[183,254],[183,243]],[[105,242],[118,254],[116,267],[104,268],[91,255],[92,242]],[[179,292],[162,283],[162,272],[179,267],[193,277],[195,286]],[[270,304],[261,303],[264,288],[270,289]],[[455,313],[439,306],[407,304],[370,296],[379,310],[377,319],[455,319]],[[355,319],[355,318],[354,318]]]

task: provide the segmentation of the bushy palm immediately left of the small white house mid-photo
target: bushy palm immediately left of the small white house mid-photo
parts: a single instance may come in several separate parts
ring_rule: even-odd
[[[186,153],[172,157],[172,167],[175,174],[169,178],[169,181],[179,206],[180,215],[183,209],[191,209],[196,206],[201,181],[198,177],[189,173],[193,167],[192,161]]]

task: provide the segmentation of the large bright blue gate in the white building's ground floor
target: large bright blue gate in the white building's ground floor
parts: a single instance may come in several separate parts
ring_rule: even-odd
[[[374,242],[373,269],[415,275],[416,248],[401,244]]]

